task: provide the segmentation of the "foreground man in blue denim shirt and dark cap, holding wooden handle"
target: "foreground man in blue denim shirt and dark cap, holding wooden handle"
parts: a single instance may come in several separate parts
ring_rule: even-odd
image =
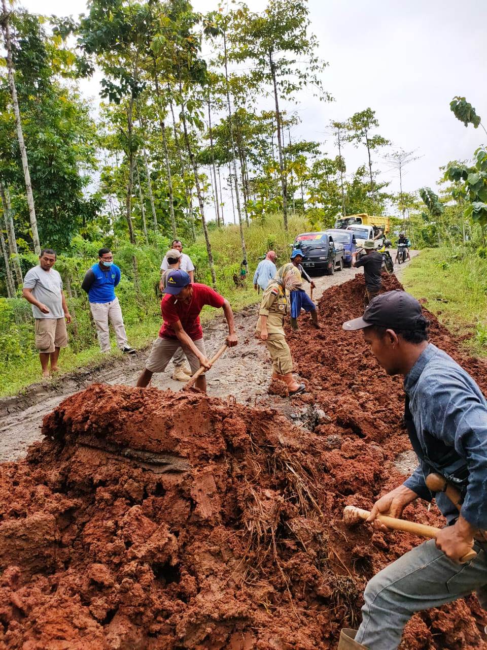
[[[464,501],[459,514],[445,494],[438,494],[449,525],[369,580],[362,625],[356,633],[342,630],[339,649],[395,650],[414,612],[487,585],[487,547],[474,539],[487,528],[487,402],[469,374],[428,343],[428,326],[419,302],[404,291],[373,298],[363,317],[343,324],[344,330],[363,330],[388,374],[405,376],[406,423],[420,459],[402,486],[375,503],[368,521],[378,514],[401,517],[418,497],[431,501],[425,477],[432,472],[463,486]],[[387,530],[377,520],[374,526]],[[477,556],[460,564],[472,547]]]

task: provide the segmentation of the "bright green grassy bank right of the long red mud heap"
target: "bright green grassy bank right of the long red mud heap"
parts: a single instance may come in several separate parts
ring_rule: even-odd
[[[484,251],[484,249],[481,250]],[[487,259],[464,248],[427,248],[401,278],[406,291],[453,333],[466,335],[468,350],[487,356]]]

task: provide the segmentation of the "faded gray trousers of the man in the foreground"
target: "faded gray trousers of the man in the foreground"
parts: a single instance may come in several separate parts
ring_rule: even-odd
[[[487,554],[483,545],[475,543],[474,548],[475,559],[456,564],[430,539],[379,571],[366,586],[355,641],[369,650],[395,650],[414,612],[482,591],[487,585]],[[479,596],[484,606],[484,593]]]

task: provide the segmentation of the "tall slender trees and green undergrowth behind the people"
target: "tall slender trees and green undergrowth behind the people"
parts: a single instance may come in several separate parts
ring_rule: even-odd
[[[157,329],[155,287],[173,237],[184,241],[197,280],[235,309],[256,299],[249,276],[266,250],[284,260],[297,231],[346,214],[395,206],[392,239],[405,229],[414,248],[462,244],[462,260],[470,251],[481,264],[474,251],[487,245],[484,147],[473,161],[445,166],[437,196],[403,191],[405,166],[417,157],[386,152],[390,140],[371,107],[331,120],[327,153],[325,142],[297,136],[301,111],[292,102],[306,88],[332,99],[306,0],[206,14],[188,0],[88,0],[86,14],[67,18],[31,14],[12,0],[1,7],[0,393],[37,378],[29,305],[19,296],[40,246],[56,249],[75,316],[64,369],[100,361],[80,289],[100,246],[121,266],[118,294],[138,347]],[[95,73],[99,107],[79,90]],[[256,112],[256,98],[265,109]],[[465,98],[450,108],[466,127],[483,128]],[[361,164],[347,169],[352,146]],[[380,175],[384,161],[399,177],[397,194]],[[247,287],[236,287],[243,260]]]

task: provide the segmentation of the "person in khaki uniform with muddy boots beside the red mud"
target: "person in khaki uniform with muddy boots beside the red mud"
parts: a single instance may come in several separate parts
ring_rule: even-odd
[[[303,393],[304,383],[293,378],[291,350],[284,335],[284,317],[288,311],[286,292],[301,285],[301,274],[292,264],[284,264],[277,270],[262,296],[259,318],[255,328],[256,336],[266,342],[273,367],[273,379],[279,379],[288,387],[289,395]]]

